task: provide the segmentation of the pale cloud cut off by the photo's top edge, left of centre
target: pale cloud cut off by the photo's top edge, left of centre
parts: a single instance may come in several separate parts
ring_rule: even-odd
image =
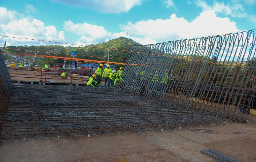
[[[127,13],[144,0],[51,0],[64,5],[88,8],[100,13]]]

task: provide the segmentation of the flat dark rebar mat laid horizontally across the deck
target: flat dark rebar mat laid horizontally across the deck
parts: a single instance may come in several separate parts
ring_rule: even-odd
[[[14,85],[1,139],[166,130],[228,122],[145,99],[127,90]]]

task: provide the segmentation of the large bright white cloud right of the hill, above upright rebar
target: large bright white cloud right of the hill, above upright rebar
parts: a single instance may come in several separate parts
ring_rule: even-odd
[[[221,24],[221,26],[219,25]],[[236,24],[228,18],[217,17],[215,11],[206,11],[192,22],[172,14],[170,19],[156,19],[128,22],[120,25],[122,30],[128,30],[129,36],[138,43],[155,44],[184,38],[207,37],[237,32]]]

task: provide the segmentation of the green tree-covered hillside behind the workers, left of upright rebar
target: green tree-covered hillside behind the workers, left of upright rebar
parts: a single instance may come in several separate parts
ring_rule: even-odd
[[[71,58],[71,52],[76,51],[75,58],[79,59],[88,59],[88,60],[103,60],[107,61],[108,53],[109,53],[109,61],[110,62],[120,62],[125,63],[129,51],[132,45],[140,45],[139,43],[133,41],[132,39],[119,37],[113,40],[109,40],[106,43],[98,43],[96,45],[88,45],[85,47],[64,47],[62,45],[39,45],[39,46],[7,46],[6,49],[3,49],[4,52],[7,53],[24,53],[35,55],[37,54],[37,62],[36,64],[55,64],[55,63],[63,63],[63,60],[53,59],[53,58],[41,58],[39,55],[52,55],[52,56],[60,56],[60,57],[69,57]],[[116,49],[116,50],[115,50]],[[31,57],[33,58],[33,57]],[[71,63],[72,60],[67,61],[67,63]],[[82,63],[90,63],[90,62],[82,62]]]

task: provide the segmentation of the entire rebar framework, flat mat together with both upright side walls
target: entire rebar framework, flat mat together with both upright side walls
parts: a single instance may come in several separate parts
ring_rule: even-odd
[[[14,84],[0,55],[1,139],[252,121],[255,49],[253,30],[133,46],[117,88]]]

